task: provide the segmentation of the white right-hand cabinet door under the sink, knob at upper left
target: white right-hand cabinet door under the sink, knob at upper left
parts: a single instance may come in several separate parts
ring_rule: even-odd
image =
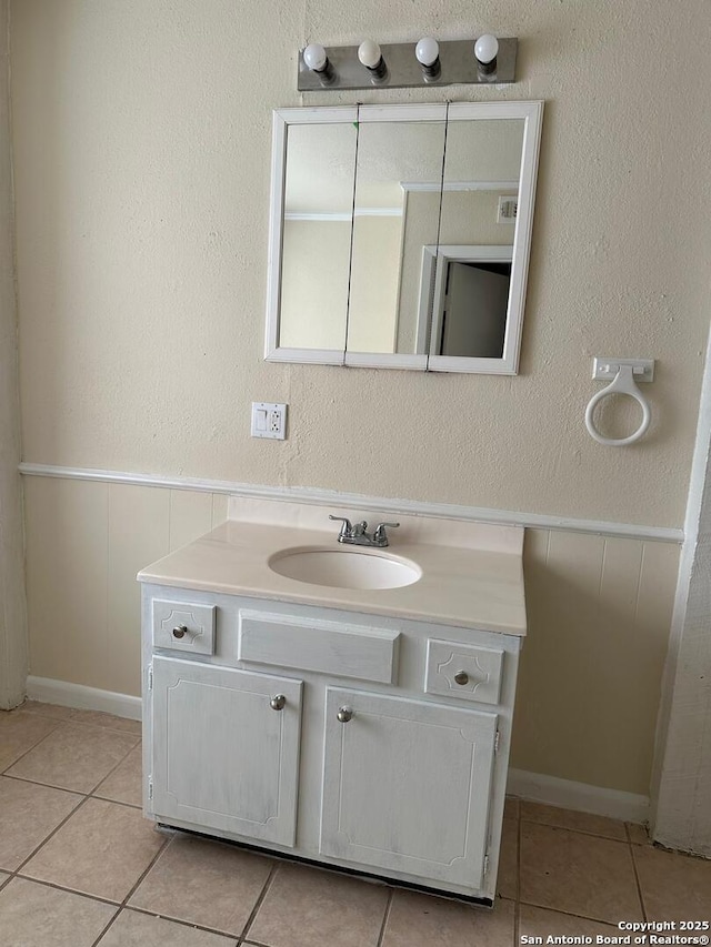
[[[481,887],[495,714],[331,687],[326,713],[321,853]]]

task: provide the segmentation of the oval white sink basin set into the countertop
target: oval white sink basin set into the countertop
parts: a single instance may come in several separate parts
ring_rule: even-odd
[[[287,578],[332,588],[400,588],[422,575],[413,562],[385,553],[318,547],[283,550],[269,560],[269,567]]]

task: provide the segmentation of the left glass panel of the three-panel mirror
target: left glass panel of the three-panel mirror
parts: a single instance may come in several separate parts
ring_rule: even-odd
[[[287,130],[279,344],[343,351],[357,129]]]

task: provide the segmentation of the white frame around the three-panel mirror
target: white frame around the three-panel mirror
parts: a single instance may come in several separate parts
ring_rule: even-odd
[[[541,140],[543,102],[452,102],[429,105],[361,105],[313,109],[278,109],[273,112],[271,194],[269,223],[267,331],[264,359],[273,362],[351,365],[362,367],[414,369],[431,372],[515,375],[519,367],[523,311],[528,280],[533,205]],[[518,181],[518,212],[511,256],[511,283],[507,310],[507,328],[501,359],[469,359],[452,355],[378,354],[349,352],[347,349],[286,349],[279,346],[279,310],[281,284],[281,248],[283,239],[284,179],[287,169],[287,131],[290,124],[367,121],[472,121],[522,119],[523,147]],[[353,182],[354,183],[354,182]],[[440,248],[444,250],[445,248]],[[500,248],[491,248],[499,250]],[[423,248],[423,258],[427,248]],[[422,300],[419,321],[422,319]]]

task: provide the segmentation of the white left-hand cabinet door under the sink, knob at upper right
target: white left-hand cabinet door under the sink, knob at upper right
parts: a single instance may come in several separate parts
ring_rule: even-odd
[[[300,726],[300,681],[154,657],[156,817],[293,846]]]

